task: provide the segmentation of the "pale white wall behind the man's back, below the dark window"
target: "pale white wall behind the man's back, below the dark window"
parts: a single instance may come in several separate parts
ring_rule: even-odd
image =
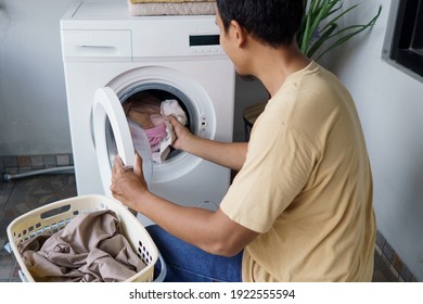
[[[362,2],[356,22],[370,20],[383,3],[377,24],[322,64],[356,100],[373,169],[377,228],[422,281],[423,83],[381,59],[390,1]]]

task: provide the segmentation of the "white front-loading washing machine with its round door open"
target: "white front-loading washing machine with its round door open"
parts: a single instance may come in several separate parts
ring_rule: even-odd
[[[61,18],[61,39],[78,194],[110,194],[116,154],[133,163],[123,104],[139,93],[177,100],[193,134],[232,141],[235,73],[215,16],[131,16],[124,0],[82,1]],[[149,164],[150,190],[187,206],[217,208],[230,183],[228,168],[178,150]]]

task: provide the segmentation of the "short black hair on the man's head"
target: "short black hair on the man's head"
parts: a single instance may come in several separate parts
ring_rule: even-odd
[[[255,39],[273,48],[290,46],[303,18],[303,0],[217,0],[227,31],[236,21]]]

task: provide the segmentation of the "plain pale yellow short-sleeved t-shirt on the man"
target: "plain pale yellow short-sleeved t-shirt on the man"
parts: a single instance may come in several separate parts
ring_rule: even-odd
[[[260,235],[244,250],[244,281],[371,281],[372,175],[354,101],[312,62],[257,118],[244,166],[221,202]]]

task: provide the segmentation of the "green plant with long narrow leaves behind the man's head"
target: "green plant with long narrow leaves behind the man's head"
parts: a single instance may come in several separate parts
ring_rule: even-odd
[[[382,5],[380,5],[377,13],[367,24],[339,27],[338,21],[357,9],[360,3],[342,10],[343,0],[303,0],[303,2],[304,18],[296,39],[303,53],[316,60],[372,27],[382,11]]]

